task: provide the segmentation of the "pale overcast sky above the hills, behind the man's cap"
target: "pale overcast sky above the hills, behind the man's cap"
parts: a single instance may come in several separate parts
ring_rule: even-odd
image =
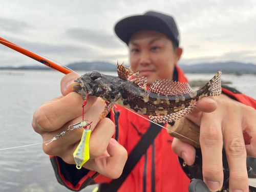
[[[173,15],[180,32],[180,63],[256,64],[255,0],[0,1],[0,37],[63,65],[80,61],[129,63],[114,34],[118,20],[155,10]],[[0,66],[36,61],[0,44]]]

